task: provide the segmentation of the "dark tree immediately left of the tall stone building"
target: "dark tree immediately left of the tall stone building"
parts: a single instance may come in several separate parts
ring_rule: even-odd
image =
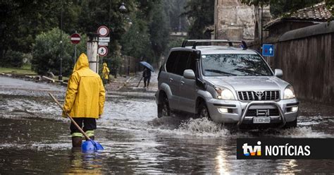
[[[205,39],[206,28],[214,25],[214,2],[211,0],[187,1],[186,12],[183,15],[191,21],[188,30],[190,39]]]

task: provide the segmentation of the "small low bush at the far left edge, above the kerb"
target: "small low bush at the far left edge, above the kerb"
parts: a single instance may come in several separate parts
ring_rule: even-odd
[[[4,59],[1,61],[1,66],[20,68],[23,66],[23,53],[8,50],[4,56]]]

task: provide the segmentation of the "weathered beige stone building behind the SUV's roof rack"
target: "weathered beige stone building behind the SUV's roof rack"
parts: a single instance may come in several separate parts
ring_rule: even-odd
[[[215,0],[214,39],[261,40],[261,14],[263,23],[271,20],[269,6],[261,11],[259,7],[242,4],[241,0]]]

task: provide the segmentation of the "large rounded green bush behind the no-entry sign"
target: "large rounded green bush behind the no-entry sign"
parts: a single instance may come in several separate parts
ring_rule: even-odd
[[[32,69],[39,74],[45,75],[47,72],[59,74],[60,68],[60,44],[61,30],[54,28],[49,32],[42,32],[36,37],[36,44],[32,52]],[[85,52],[86,37],[82,35],[82,40],[78,44],[77,56]],[[74,44],[70,43],[70,37],[63,32],[63,76],[69,76],[74,66]]]

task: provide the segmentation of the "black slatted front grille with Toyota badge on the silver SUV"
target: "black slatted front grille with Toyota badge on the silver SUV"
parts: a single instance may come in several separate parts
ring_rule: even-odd
[[[260,101],[260,100],[273,100],[280,99],[279,90],[266,90],[266,91],[239,91],[237,96],[242,101]]]

